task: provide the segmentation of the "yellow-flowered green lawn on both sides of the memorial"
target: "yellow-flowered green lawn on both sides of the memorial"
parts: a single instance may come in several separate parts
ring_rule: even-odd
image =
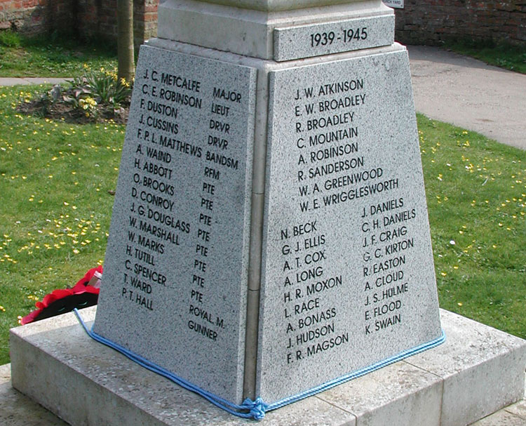
[[[124,127],[18,114],[0,88],[0,364],[8,328],[101,263]],[[418,117],[440,305],[526,338],[526,152]]]

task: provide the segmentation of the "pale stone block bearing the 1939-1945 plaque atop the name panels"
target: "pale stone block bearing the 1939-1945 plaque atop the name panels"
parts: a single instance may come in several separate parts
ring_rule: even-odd
[[[393,10],[380,0],[209,1],[160,4],[159,38],[278,62],[394,41]]]

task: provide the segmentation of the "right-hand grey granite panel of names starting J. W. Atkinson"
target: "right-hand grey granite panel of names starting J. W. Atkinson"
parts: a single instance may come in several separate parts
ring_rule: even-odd
[[[405,51],[272,72],[257,394],[441,335]]]

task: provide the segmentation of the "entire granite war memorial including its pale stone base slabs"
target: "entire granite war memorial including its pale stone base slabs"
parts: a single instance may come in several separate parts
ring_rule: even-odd
[[[380,0],[161,4],[80,313],[98,341],[73,314],[14,329],[13,386],[72,425],[465,425],[520,399],[525,342],[438,308],[393,36]]]

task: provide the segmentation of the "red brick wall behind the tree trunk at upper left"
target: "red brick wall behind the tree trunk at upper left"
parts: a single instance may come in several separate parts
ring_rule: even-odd
[[[156,36],[159,0],[134,0],[136,44]],[[116,0],[0,0],[0,29],[26,34],[69,31],[116,41]]]

